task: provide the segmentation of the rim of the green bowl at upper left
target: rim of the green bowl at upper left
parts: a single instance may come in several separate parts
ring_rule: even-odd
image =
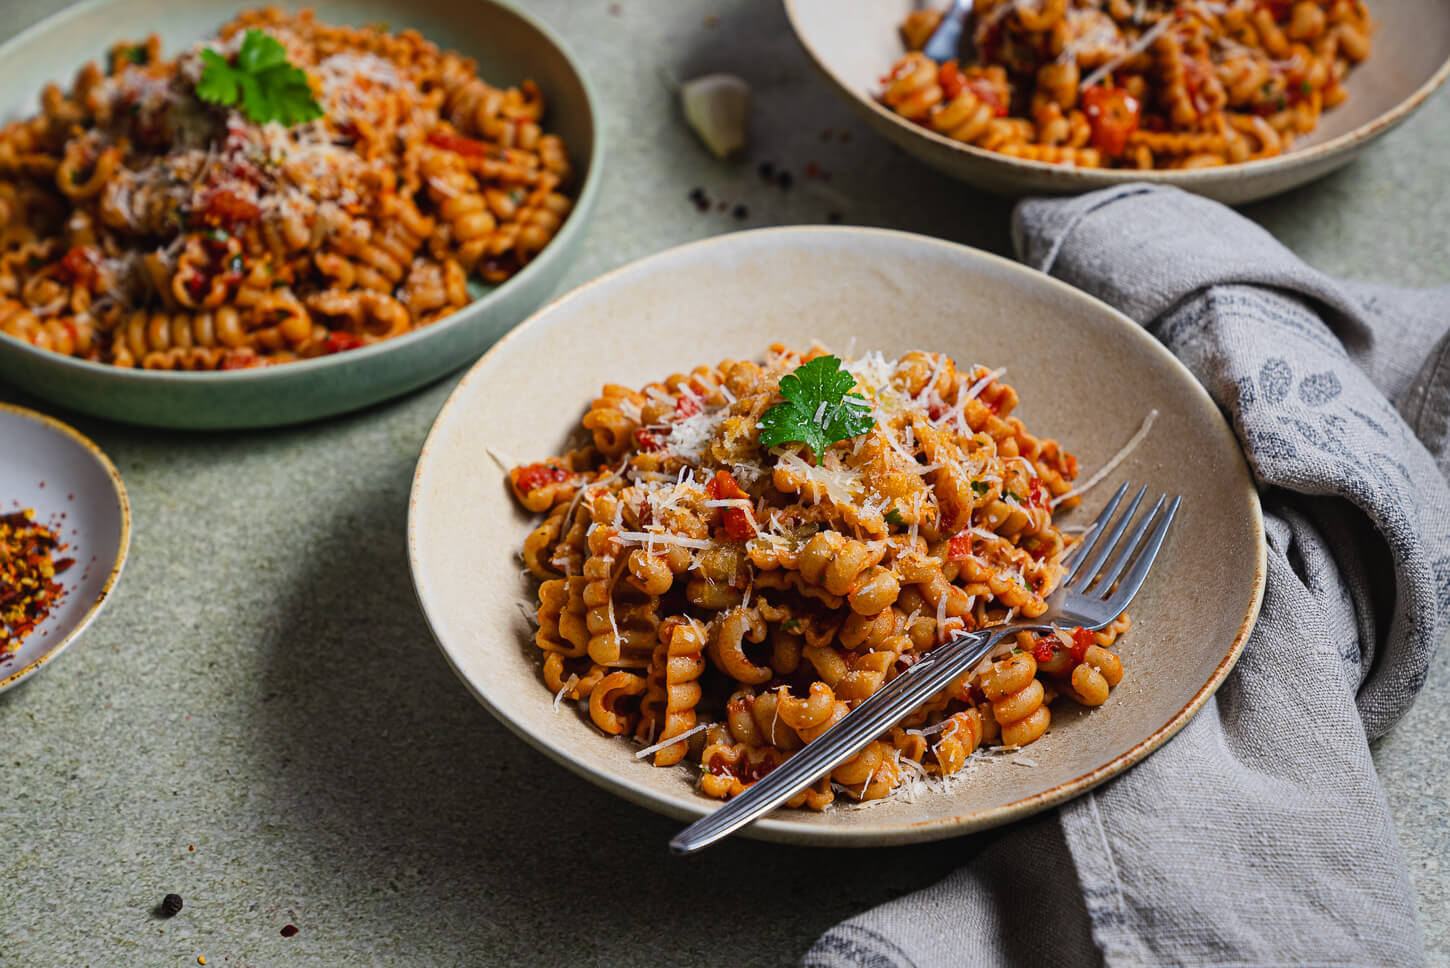
[[[0,59],[4,59],[13,51],[20,49],[32,42],[33,36],[38,36],[46,30],[62,26],[68,20],[86,14],[91,14],[99,7],[110,6],[117,0],[81,0],[80,3],[64,7],[42,20],[32,23],[25,30],[20,30],[12,36],[4,43],[0,43]],[[202,370],[202,371],[186,371],[186,370],[144,370],[141,367],[116,367],[113,364],[94,362],[91,359],[80,359],[77,356],[64,356],[61,354],[52,352],[49,349],[41,349],[39,346],[32,346],[17,336],[0,332],[0,354],[10,352],[19,356],[30,356],[36,362],[46,364],[51,367],[59,367],[62,370],[71,370],[78,377],[91,378],[110,378],[125,383],[132,383],[135,385],[204,385],[207,383],[220,385],[245,385],[254,383],[268,383],[274,380],[289,378],[291,374],[316,374],[320,375],[329,368],[352,365],[358,361],[367,361],[373,356],[380,356],[387,352],[397,351],[403,346],[410,346],[413,343],[420,343],[429,339],[434,333],[447,332],[458,326],[467,325],[471,319],[483,313],[489,306],[502,301],[508,291],[512,291],[512,284],[519,281],[522,285],[523,280],[529,280],[545,271],[548,261],[560,256],[560,252],[566,252],[571,246],[568,241],[573,239],[580,232],[586,230],[586,223],[589,216],[594,210],[594,201],[600,193],[600,183],[603,180],[603,158],[606,149],[606,135],[605,125],[600,119],[600,106],[603,100],[594,87],[593,80],[584,70],[583,62],[574,54],[573,48],[564,42],[564,39],[555,33],[548,25],[535,17],[532,13],[515,6],[513,0],[473,0],[474,3],[489,4],[502,9],[505,13],[510,13],[534,30],[536,30],[548,43],[564,59],[568,70],[573,71],[574,77],[579,80],[580,88],[584,91],[584,107],[589,112],[589,133],[590,133],[590,149],[586,158],[584,181],[579,188],[579,194],[574,196],[574,206],[570,212],[570,217],[564,219],[564,225],[560,228],[558,233],[550,239],[539,254],[529,261],[528,265],[521,268],[518,272],[510,275],[503,283],[499,283],[492,290],[484,293],[476,300],[471,300],[467,306],[444,316],[435,323],[426,326],[419,326],[402,336],[394,336],[392,339],[384,339],[376,342],[370,346],[360,346],[357,349],[349,349],[345,354],[326,354],[322,356],[312,356],[307,359],[293,359],[286,365],[278,367],[254,367],[248,370]],[[579,212],[584,217],[576,219],[573,214]],[[558,243],[558,245],[555,245]],[[516,288],[516,287],[515,287]]]

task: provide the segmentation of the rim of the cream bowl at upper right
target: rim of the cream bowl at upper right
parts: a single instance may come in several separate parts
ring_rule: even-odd
[[[856,104],[858,110],[864,109],[870,117],[890,123],[903,135],[922,138],[928,143],[961,152],[970,158],[1005,168],[1018,168],[1043,175],[1051,175],[1063,183],[1076,183],[1064,184],[1063,188],[1067,191],[1105,188],[1108,185],[1128,184],[1132,181],[1169,184],[1192,190],[1193,185],[1206,185],[1240,175],[1269,175],[1279,171],[1288,171],[1290,168],[1312,165],[1318,161],[1327,161],[1337,157],[1341,152],[1346,152],[1356,145],[1362,145],[1378,135],[1388,132],[1391,128],[1395,128],[1409,117],[1409,114],[1417,112],[1430,99],[1430,96],[1434,94],[1447,78],[1450,78],[1450,57],[1447,57],[1424,84],[1389,110],[1382,112],[1359,128],[1344,132],[1337,138],[1331,138],[1330,141],[1302,149],[1290,148],[1289,151],[1275,155],[1273,158],[1237,161],[1219,165],[1218,168],[1153,168],[1148,171],[1140,171],[1137,168],[1079,168],[1076,165],[1057,165],[1045,161],[1012,158],[1011,155],[1003,155],[1000,152],[987,151],[986,148],[977,148],[976,145],[954,141],[945,135],[931,130],[929,128],[924,128],[908,120],[906,117],[902,117],[896,112],[889,110],[886,106],[876,101],[876,99],[857,91],[845,81],[845,78],[835,72],[819,51],[816,51],[816,48],[811,43],[811,41],[806,39],[796,14],[800,3],[802,0],[784,0],[786,20],[790,23],[790,32],[795,33],[796,42],[802,46],[802,49],[805,49],[816,71],[831,81],[837,90],[845,94],[847,100],[851,104]]]

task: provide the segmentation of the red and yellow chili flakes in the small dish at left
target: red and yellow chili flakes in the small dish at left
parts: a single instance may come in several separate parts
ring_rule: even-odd
[[[75,564],[55,530],[35,522],[33,510],[0,514],[0,655],[20,648],[65,594],[55,580]]]

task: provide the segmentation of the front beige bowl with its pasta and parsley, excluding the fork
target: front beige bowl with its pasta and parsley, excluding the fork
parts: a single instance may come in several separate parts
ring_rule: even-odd
[[[521,410],[541,385],[551,406]],[[1125,616],[1006,642],[748,829],[931,839],[1148,755],[1257,614],[1263,532],[1234,435],[1102,303],[884,230],[651,256],[464,377],[418,462],[409,554],[484,706],[566,767],[695,819],[957,630],[1041,614],[1130,478],[1183,506]]]

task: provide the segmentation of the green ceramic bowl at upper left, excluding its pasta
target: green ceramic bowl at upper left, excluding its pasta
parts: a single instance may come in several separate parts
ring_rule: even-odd
[[[32,114],[46,81],[75,71],[119,38],[161,35],[175,52],[216,30],[244,0],[88,0],[0,45],[0,122]],[[518,275],[431,326],[318,359],[229,372],[125,370],[36,349],[0,333],[0,378],[74,410],[126,423],[223,429],[300,423],[416,390],[467,365],[528,316],[558,284],[584,238],[599,196],[603,126],[583,68],[552,32],[500,0],[316,0],[328,23],[416,28],[478,62],[481,77],[532,77],[548,103],[547,125],[574,167],[576,203],[558,236]],[[477,294],[477,293],[476,293]]]

